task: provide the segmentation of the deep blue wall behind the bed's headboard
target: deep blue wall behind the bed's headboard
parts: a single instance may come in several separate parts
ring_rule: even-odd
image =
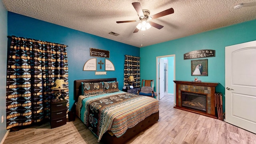
[[[124,81],[124,55],[140,56],[140,48],[138,47],[12,12],[8,12],[8,35],[33,38],[68,46],[70,109],[74,105],[74,80],[117,78],[119,82],[119,90],[122,90]],[[95,75],[95,71],[83,71],[84,63],[90,58],[97,58],[97,63],[100,60],[105,62],[105,58],[90,57],[90,48],[109,50],[109,60],[114,64],[116,70],[107,71],[107,75]],[[104,66],[102,66],[102,69],[100,70],[100,65],[97,64],[97,71],[104,70]]]

